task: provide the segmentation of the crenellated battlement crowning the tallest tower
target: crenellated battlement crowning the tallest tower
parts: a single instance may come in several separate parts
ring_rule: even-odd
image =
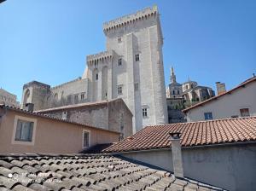
[[[135,14],[127,14],[125,16],[119,17],[116,20],[110,20],[108,22],[105,22],[103,24],[103,31],[106,33],[109,30],[130,25],[137,20],[148,19],[148,17],[155,16],[156,14],[158,14],[157,6],[139,10]]]

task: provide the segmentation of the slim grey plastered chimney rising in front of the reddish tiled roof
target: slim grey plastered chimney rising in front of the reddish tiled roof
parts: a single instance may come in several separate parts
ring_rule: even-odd
[[[170,133],[172,144],[172,163],[175,177],[183,177],[183,158],[180,145],[181,133]]]

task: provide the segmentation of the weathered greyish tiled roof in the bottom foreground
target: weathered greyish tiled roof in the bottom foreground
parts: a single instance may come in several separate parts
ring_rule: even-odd
[[[111,155],[0,156],[0,190],[223,190]]]

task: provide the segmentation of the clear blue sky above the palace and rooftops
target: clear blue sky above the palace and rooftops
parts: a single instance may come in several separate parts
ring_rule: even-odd
[[[38,80],[52,86],[78,78],[85,56],[105,49],[102,23],[157,4],[164,35],[166,85],[225,82],[256,73],[256,1],[7,0],[0,4],[0,86],[18,96]]]

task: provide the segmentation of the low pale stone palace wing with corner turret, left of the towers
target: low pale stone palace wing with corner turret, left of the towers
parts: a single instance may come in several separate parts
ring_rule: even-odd
[[[34,110],[41,110],[90,101],[88,84],[88,78],[78,78],[50,88],[48,84],[32,81],[23,87],[21,108],[27,102],[34,104]]]

